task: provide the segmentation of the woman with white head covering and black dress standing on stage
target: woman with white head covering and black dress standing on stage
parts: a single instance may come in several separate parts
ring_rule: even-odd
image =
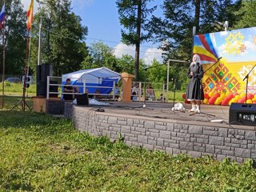
[[[204,99],[204,95],[202,89],[203,70],[198,54],[194,54],[187,76],[190,78],[190,82],[186,89],[186,99],[192,103],[190,111],[200,113],[200,104]]]

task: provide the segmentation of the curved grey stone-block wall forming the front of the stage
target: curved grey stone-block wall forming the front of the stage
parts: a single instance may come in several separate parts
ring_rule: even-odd
[[[190,154],[195,158],[208,154],[218,161],[223,158],[236,162],[256,159],[254,127],[234,128],[217,123],[138,118],[96,112],[94,108],[71,106],[70,103],[65,104],[65,115],[73,119],[77,130],[95,136],[107,135],[111,139],[118,139],[118,134],[121,134],[129,146],[142,146],[174,155]]]

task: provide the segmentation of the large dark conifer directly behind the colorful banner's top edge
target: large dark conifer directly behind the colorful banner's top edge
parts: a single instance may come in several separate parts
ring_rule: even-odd
[[[216,31],[212,26],[216,21],[228,20],[234,26],[234,9],[238,5],[232,0],[165,0],[162,9],[165,18],[154,17],[150,22],[153,40],[168,40],[166,59],[188,60],[192,53],[193,26],[198,26],[200,34]]]

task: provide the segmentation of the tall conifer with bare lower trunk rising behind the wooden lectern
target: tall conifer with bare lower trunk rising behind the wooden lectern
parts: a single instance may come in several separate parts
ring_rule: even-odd
[[[119,19],[126,30],[122,30],[122,42],[135,45],[134,75],[138,81],[140,44],[150,38],[148,23],[157,6],[147,8],[151,0],[117,0]]]

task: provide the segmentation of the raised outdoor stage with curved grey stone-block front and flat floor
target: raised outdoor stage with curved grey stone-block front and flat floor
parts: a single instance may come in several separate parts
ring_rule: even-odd
[[[109,102],[104,106],[76,106],[65,102],[66,118],[75,129],[119,139],[129,146],[162,150],[167,154],[210,155],[219,161],[256,159],[255,126],[229,124],[229,106],[202,105],[201,114],[172,111],[166,102]],[[215,122],[213,122],[215,121]]]

